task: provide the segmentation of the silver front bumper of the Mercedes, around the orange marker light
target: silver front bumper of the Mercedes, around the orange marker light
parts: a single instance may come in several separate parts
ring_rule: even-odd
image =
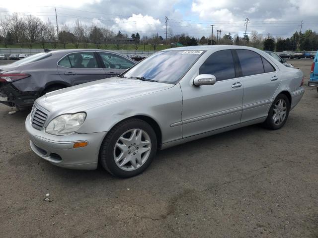
[[[65,136],[50,135],[45,128],[37,130],[32,127],[30,115],[25,120],[25,129],[30,139],[31,149],[51,164],[78,170],[94,170],[97,168],[100,145],[106,132]],[[73,148],[74,143],[86,141],[85,147]]]

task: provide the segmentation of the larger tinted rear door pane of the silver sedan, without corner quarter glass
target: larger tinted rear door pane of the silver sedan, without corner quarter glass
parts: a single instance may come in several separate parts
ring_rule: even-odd
[[[236,50],[243,76],[264,73],[261,56],[249,50]]]

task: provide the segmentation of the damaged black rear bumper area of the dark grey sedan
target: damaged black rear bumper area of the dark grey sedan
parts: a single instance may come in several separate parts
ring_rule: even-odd
[[[35,100],[40,97],[41,92],[20,92],[11,83],[0,83],[0,97],[6,100],[0,100],[0,103],[9,107],[17,106],[19,108],[30,107]]]

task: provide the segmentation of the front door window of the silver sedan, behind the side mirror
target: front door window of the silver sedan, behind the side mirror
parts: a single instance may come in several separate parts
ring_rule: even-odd
[[[199,73],[213,74],[217,81],[235,78],[235,68],[231,50],[213,53],[201,65]]]

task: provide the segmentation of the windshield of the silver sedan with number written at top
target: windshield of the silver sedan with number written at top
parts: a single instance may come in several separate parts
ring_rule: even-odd
[[[141,61],[122,76],[175,84],[203,53],[204,51],[158,52]]]

